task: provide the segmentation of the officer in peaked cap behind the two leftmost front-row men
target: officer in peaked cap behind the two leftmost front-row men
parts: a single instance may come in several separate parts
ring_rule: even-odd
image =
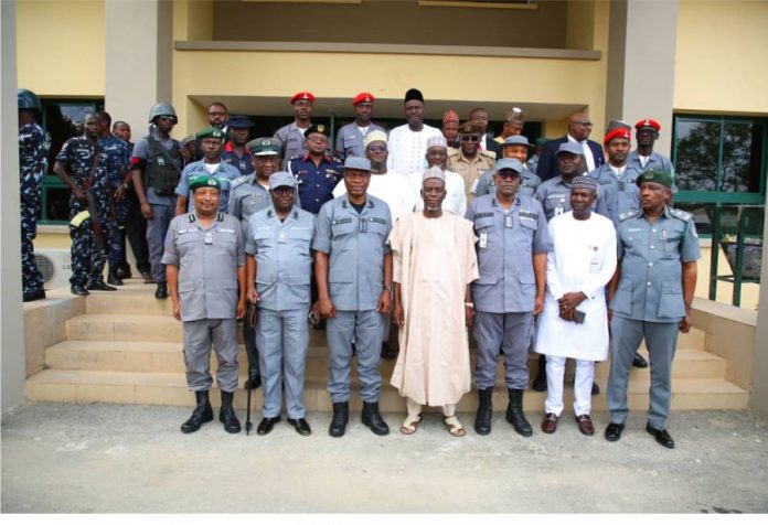
[[[280,147],[271,137],[254,139],[247,147],[254,172],[232,181],[230,214],[239,219],[243,234],[249,238],[248,219],[256,212],[269,207],[269,176],[280,167]],[[250,315],[246,315],[243,319],[243,340],[245,354],[248,356],[248,379],[245,388],[258,388],[262,385],[255,330],[256,325],[252,324]]]

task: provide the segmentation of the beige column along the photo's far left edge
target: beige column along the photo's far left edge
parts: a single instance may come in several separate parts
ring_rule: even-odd
[[[17,98],[17,2],[0,2],[0,67],[2,75],[2,136],[0,159],[6,181],[18,184],[19,113]],[[24,357],[24,319],[21,303],[21,216],[19,186],[11,184],[2,195],[2,314],[0,315],[0,368],[2,369],[2,411],[6,413],[24,399],[26,360]]]

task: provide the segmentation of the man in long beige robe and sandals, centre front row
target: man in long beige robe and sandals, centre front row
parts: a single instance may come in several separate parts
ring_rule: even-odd
[[[392,385],[406,397],[408,417],[401,431],[413,433],[422,405],[442,407],[451,435],[465,429],[456,405],[470,390],[469,343],[471,287],[478,278],[472,225],[442,213],[445,173],[424,173],[424,211],[402,217],[390,235],[399,355]]]

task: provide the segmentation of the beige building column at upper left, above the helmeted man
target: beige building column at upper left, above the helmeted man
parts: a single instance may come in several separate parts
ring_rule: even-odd
[[[149,109],[172,96],[173,2],[106,0],[105,109],[135,140],[147,135]]]

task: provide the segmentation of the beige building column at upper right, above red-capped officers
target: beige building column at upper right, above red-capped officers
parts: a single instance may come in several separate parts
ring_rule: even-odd
[[[615,0],[609,23],[606,117],[658,120],[654,150],[671,157],[678,2]]]

